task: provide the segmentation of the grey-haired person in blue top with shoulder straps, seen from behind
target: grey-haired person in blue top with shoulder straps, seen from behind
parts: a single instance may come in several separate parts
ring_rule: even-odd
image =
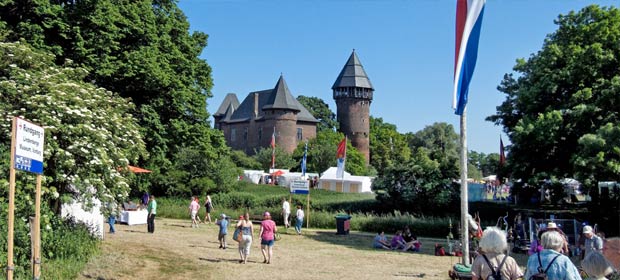
[[[557,231],[547,231],[540,237],[543,250],[531,255],[527,260],[527,270],[525,279],[530,279],[532,275],[539,273],[540,270],[546,271],[547,279],[579,279],[579,271],[571,260],[560,253],[566,240]],[[539,270],[540,268],[540,270]]]

